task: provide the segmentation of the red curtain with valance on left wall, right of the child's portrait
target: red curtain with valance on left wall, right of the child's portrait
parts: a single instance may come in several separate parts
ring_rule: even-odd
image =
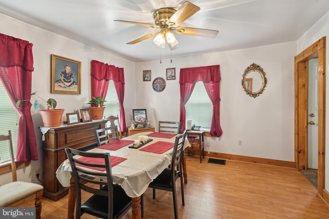
[[[120,121],[125,124],[125,115],[123,108],[124,99],[124,72],[123,68],[104,64],[96,60],[92,61],[92,96],[102,96],[105,98],[109,80],[113,80],[117,92],[120,108]],[[126,131],[125,126],[121,126],[121,132]]]

